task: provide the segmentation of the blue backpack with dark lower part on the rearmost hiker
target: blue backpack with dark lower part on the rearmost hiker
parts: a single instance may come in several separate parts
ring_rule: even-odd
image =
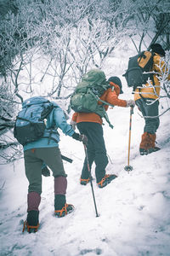
[[[47,119],[54,105],[42,96],[35,96],[22,103],[14,124],[14,137],[21,145],[37,141],[43,137]]]

